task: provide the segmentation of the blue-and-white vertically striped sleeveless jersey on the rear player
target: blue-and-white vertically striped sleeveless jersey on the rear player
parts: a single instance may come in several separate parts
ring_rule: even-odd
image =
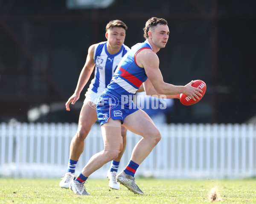
[[[123,44],[118,53],[109,54],[107,51],[107,41],[96,44],[93,55],[96,66],[94,78],[91,80],[89,89],[96,94],[101,94],[110,83],[122,57],[124,57],[128,51],[130,51],[130,48]]]

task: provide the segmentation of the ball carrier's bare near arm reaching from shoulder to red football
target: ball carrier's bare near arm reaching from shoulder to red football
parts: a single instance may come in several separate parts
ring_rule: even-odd
[[[157,54],[149,49],[144,49],[137,53],[136,56],[137,64],[145,69],[145,73],[152,83],[155,91],[158,94],[165,95],[178,95],[185,94],[190,96],[194,101],[199,99],[198,96],[202,96],[199,92],[202,92],[201,89],[192,87],[192,82],[187,84],[186,86],[175,86],[163,81],[162,73],[159,69],[159,58]],[[148,89],[150,86],[144,86],[146,94],[152,93],[152,90]],[[196,99],[195,99],[196,98]]]

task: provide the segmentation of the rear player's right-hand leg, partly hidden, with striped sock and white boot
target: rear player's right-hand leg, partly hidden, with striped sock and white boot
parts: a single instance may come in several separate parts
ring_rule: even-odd
[[[116,189],[116,190],[118,190],[120,188],[120,184],[118,182],[116,182],[116,173],[117,173],[122,155],[125,151],[126,133],[127,133],[127,129],[124,126],[122,126],[121,127],[121,135],[122,135],[122,139],[123,139],[123,148],[122,148],[122,151],[118,154],[118,157],[115,160],[111,161],[110,169],[108,170],[108,173],[107,173],[107,177],[109,179],[108,186],[113,189]]]

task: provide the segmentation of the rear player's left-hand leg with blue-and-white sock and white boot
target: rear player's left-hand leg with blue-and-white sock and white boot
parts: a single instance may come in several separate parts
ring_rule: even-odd
[[[84,150],[84,139],[90,132],[90,128],[97,120],[97,113],[95,104],[86,101],[84,102],[80,116],[76,135],[73,137],[70,143],[70,158],[68,161],[67,173],[60,182],[60,187],[68,188],[70,181],[74,178],[76,170],[76,164]]]

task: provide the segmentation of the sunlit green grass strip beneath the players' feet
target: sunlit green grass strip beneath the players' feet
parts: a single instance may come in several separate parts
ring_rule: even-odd
[[[60,179],[0,178],[0,203],[4,204],[198,204],[212,203],[209,192],[217,187],[221,201],[217,203],[256,203],[256,180],[160,180],[137,179],[145,195],[136,195],[121,185],[111,190],[108,180],[88,179],[90,196],[75,195],[58,186]]]

